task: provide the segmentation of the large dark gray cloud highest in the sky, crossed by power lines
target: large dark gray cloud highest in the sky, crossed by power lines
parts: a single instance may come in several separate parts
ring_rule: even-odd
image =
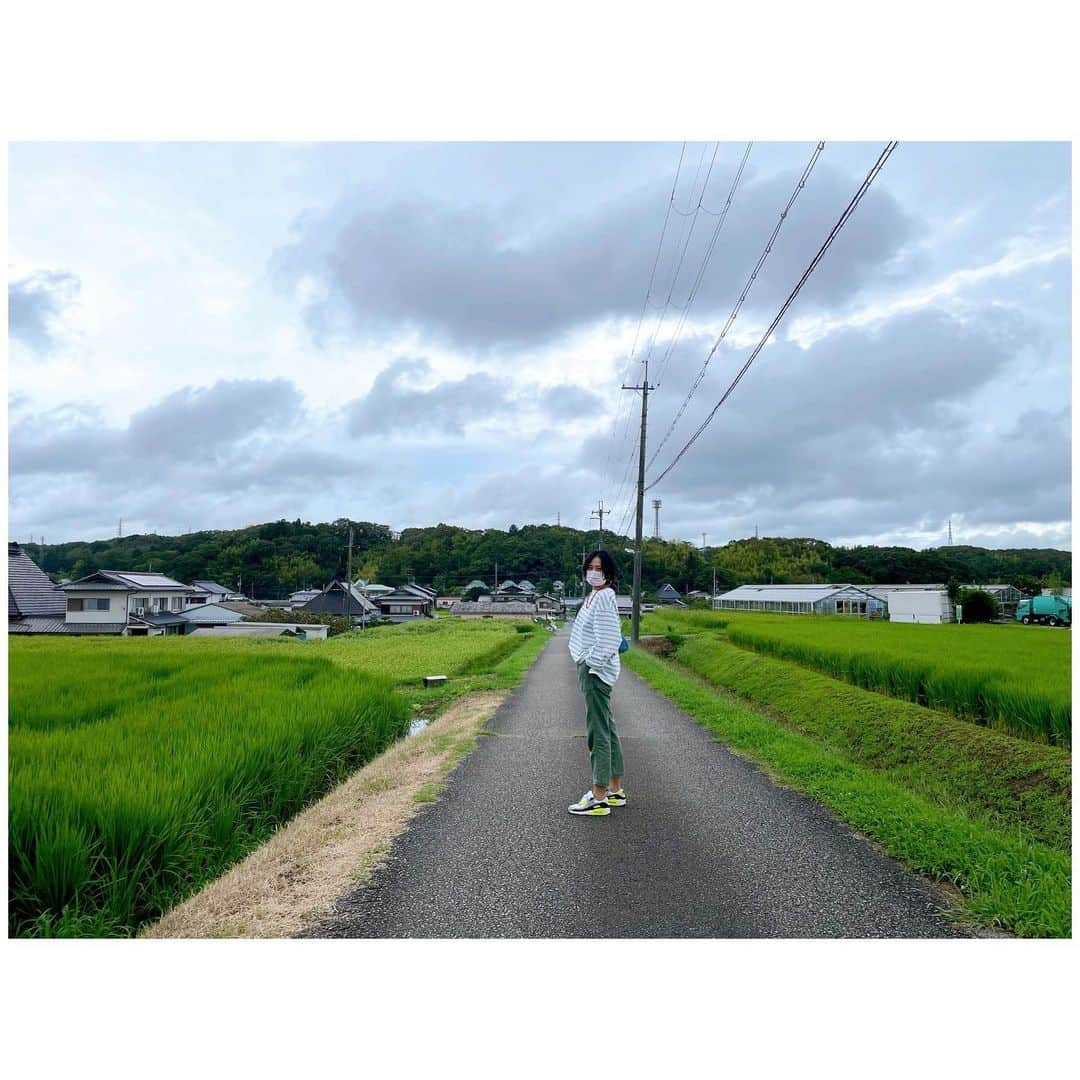
[[[733,173],[733,163],[727,171]],[[795,170],[756,177],[751,172],[735,197],[737,213],[720,233],[694,313],[734,302],[798,175]],[[785,221],[747,312],[786,297],[859,179],[819,163]],[[706,203],[723,201],[718,192],[726,187],[721,175]],[[656,221],[662,205],[650,186],[538,225],[527,207],[374,205],[352,194],[325,215],[302,218],[295,242],[273,261],[286,280],[313,274],[325,285],[328,298],[309,309],[320,335],[343,320],[348,332],[361,337],[409,328],[472,349],[530,345],[640,311],[657,244],[656,233],[642,222]],[[665,283],[674,274],[685,220],[673,215],[658,269],[660,302],[667,297]],[[686,300],[714,221],[699,218],[672,286],[675,303]],[[868,280],[880,282],[915,229],[887,190],[872,189],[808,286],[804,307],[835,303]]]

